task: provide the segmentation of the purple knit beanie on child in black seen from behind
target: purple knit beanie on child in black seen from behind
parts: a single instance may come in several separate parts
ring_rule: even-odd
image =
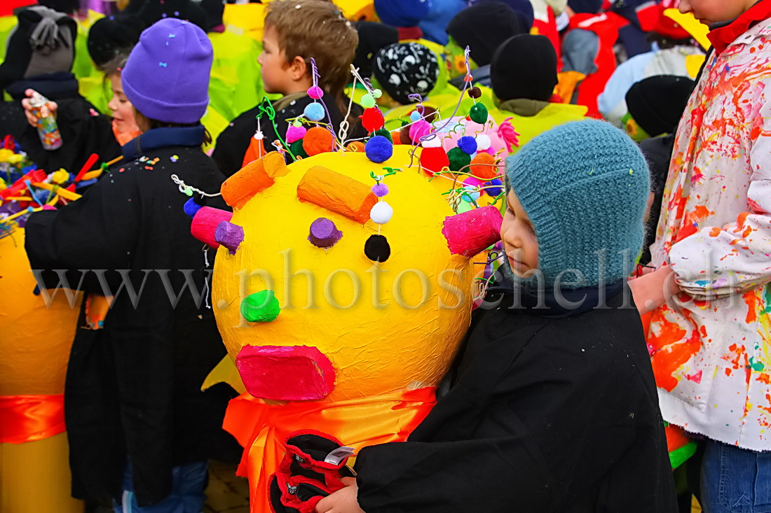
[[[166,18],[147,28],[129,55],[121,81],[126,98],[149,119],[200,121],[209,105],[212,51],[206,32]]]

